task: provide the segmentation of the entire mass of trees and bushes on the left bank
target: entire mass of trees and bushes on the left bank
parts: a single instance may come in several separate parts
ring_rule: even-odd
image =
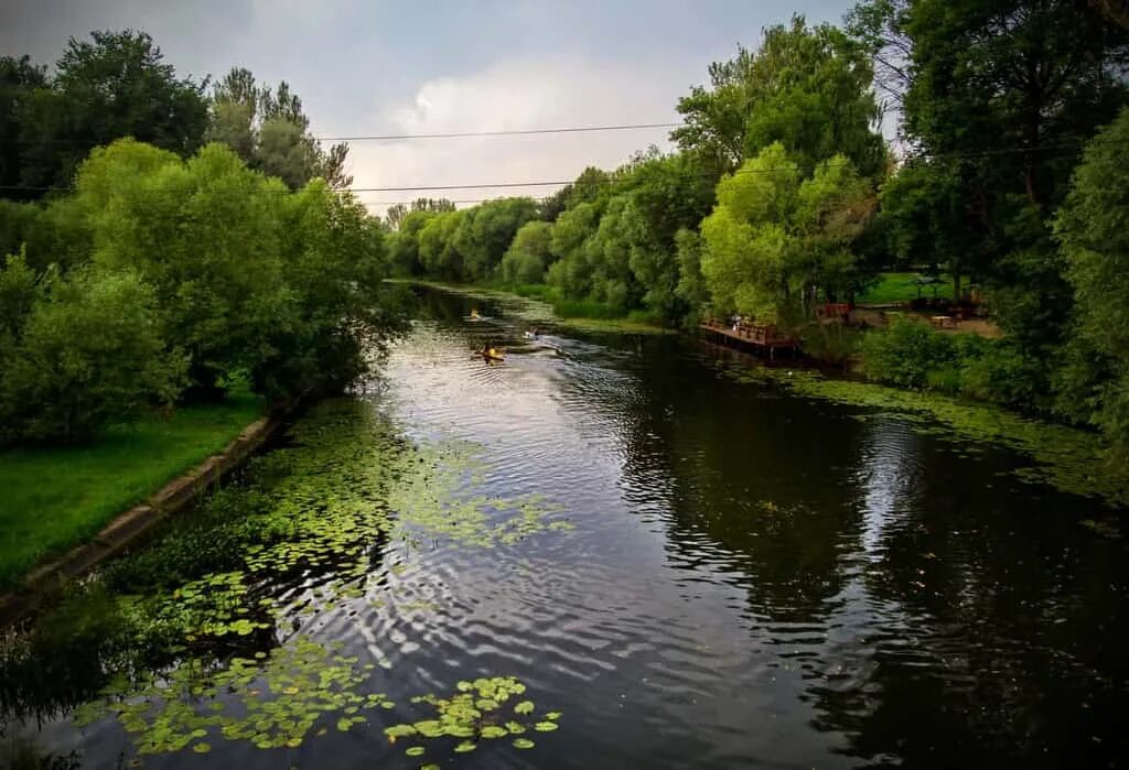
[[[236,381],[336,390],[401,327],[384,225],[339,192],[348,148],[322,149],[286,82],[207,86],[132,30],[72,38],[51,74],[0,59],[0,443]],[[480,253],[524,222],[507,212]]]

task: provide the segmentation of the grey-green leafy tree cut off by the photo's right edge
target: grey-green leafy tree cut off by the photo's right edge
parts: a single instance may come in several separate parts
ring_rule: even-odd
[[[1054,230],[1075,291],[1082,342],[1097,353],[1087,366],[1096,422],[1119,461],[1129,460],[1129,108],[1086,147]],[[1105,375],[1106,377],[1102,377]],[[1097,377],[1095,377],[1097,374]]]

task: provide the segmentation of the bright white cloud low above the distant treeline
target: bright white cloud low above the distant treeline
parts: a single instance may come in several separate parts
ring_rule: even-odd
[[[677,120],[674,105],[694,80],[695,69],[694,63],[680,67],[671,61],[511,57],[479,72],[431,79],[412,98],[374,110],[369,123],[388,134],[667,123]],[[619,166],[651,143],[668,147],[667,131],[353,142],[350,171],[355,187],[566,180],[586,166]],[[386,209],[383,202],[419,196],[542,197],[552,192],[552,187],[450,189],[365,193],[361,198],[379,213]]]

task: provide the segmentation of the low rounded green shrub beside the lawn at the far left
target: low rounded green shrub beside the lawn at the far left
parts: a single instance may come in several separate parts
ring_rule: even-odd
[[[9,430],[73,442],[170,404],[186,362],[166,349],[155,306],[130,272],[80,272],[36,302],[0,383]]]

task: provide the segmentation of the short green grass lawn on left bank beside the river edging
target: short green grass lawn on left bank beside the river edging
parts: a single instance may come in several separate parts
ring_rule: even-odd
[[[233,441],[263,413],[251,393],[108,430],[93,444],[0,453],[0,588]]]

